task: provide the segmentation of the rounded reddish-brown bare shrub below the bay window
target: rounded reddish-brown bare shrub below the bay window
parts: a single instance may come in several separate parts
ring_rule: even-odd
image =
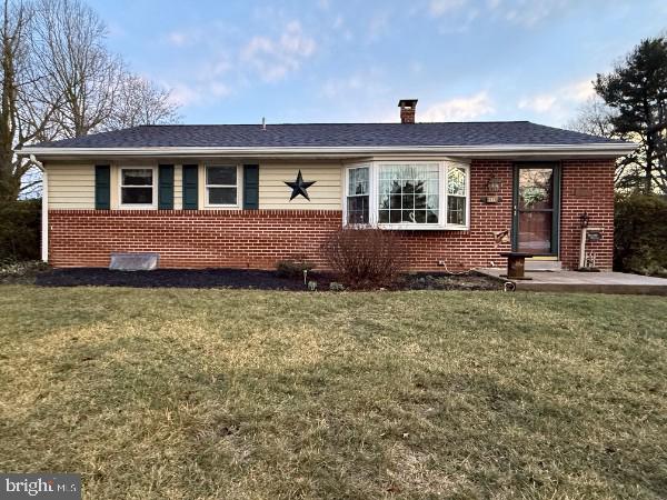
[[[355,289],[391,286],[406,269],[399,238],[377,228],[342,228],[325,242],[323,254],[338,279]]]

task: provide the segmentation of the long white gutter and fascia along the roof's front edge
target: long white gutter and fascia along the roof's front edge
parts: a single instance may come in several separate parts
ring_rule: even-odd
[[[297,148],[200,148],[200,147],[147,147],[147,148],[48,148],[26,147],[17,151],[19,156],[37,154],[43,157],[239,157],[252,158],[281,158],[281,157],[355,157],[372,154],[464,154],[469,157],[621,157],[635,150],[639,144],[635,142],[616,143],[598,142],[589,144],[488,144],[488,146],[367,146],[367,147],[297,147]]]

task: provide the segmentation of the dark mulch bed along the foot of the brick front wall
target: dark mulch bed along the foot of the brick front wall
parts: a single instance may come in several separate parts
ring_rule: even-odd
[[[334,277],[312,272],[318,290],[328,290]],[[51,269],[38,273],[40,287],[131,287],[131,288],[230,288],[257,290],[307,290],[302,280],[280,277],[276,271],[247,269],[158,269],[110,271],[98,268]],[[408,274],[392,290],[499,290],[501,283],[476,274]]]

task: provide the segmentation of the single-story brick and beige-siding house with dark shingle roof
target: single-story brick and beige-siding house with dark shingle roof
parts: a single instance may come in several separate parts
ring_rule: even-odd
[[[43,259],[107,267],[158,252],[163,268],[325,266],[345,224],[398,231],[414,270],[611,267],[615,160],[633,143],[528,121],[143,126],[27,147],[43,166]]]

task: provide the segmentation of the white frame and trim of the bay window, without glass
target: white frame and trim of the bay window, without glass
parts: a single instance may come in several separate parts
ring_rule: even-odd
[[[391,166],[397,163],[430,163],[438,166],[438,223],[380,223],[379,218],[379,171],[382,166]],[[456,166],[465,169],[466,171],[466,223],[460,224],[448,224],[447,223],[447,171],[448,166]],[[461,160],[452,159],[439,159],[439,160],[422,160],[420,158],[407,158],[394,161],[365,161],[344,164],[345,182],[342,189],[342,224],[348,226],[347,218],[347,193],[349,190],[349,171],[362,167],[368,167],[369,172],[369,216],[368,226],[378,227],[386,230],[399,230],[399,231],[424,231],[424,230],[437,230],[437,231],[468,231],[470,229],[470,164]]]

